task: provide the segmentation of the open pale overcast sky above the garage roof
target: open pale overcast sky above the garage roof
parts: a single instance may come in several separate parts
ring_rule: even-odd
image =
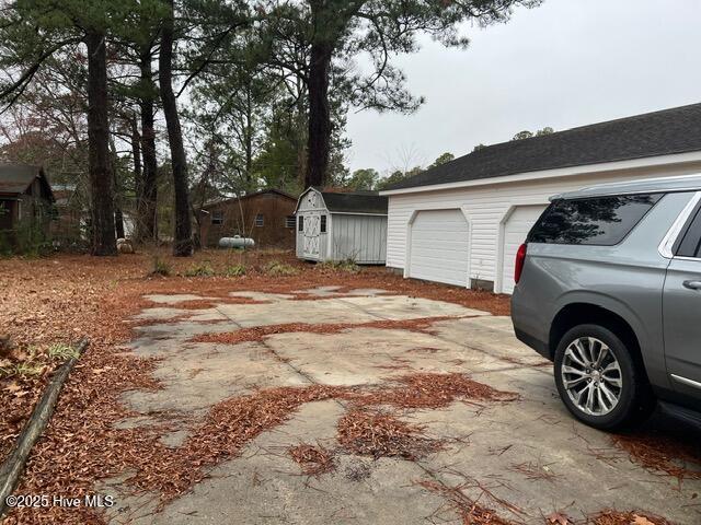
[[[701,102],[701,0],[545,0],[469,35],[468,50],[427,39],[395,59],[426,103],[409,116],[350,113],[352,170]]]

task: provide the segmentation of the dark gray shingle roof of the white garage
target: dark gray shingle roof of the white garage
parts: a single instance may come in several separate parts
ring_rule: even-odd
[[[701,151],[701,104],[489,145],[387,189]]]

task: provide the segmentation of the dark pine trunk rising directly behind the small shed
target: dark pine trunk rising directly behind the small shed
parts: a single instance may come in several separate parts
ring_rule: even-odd
[[[331,110],[329,107],[329,69],[333,46],[312,43],[309,63],[309,137],[304,187],[323,186],[331,151]]]

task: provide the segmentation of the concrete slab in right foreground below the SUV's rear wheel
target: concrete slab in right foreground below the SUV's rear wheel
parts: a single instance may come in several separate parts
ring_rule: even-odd
[[[508,501],[522,514],[504,509],[505,516],[526,523],[538,523],[541,514],[565,508],[577,520],[602,509],[642,509],[671,523],[694,522],[683,504],[694,500],[698,482],[678,486],[631,463],[606,433],[575,423],[551,395],[552,387],[545,388],[542,374],[527,369],[512,372],[522,377],[519,384],[496,380],[497,375],[504,373],[485,374],[480,381],[509,384],[528,397],[518,404],[486,407],[457,402],[411,418],[426,424],[428,435],[469,442],[420,462],[438,480],[448,486],[467,482],[466,493],[493,508],[499,506],[495,498]]]

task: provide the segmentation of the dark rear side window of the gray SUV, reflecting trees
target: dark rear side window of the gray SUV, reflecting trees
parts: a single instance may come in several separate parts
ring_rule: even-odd
[[[555,200],[528,235],[530,243],[613,246],[641,221],[662,194]]]

